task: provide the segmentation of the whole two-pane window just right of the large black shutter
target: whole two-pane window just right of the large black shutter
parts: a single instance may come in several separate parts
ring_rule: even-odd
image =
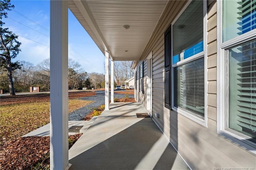
[[[172,46],[170,58],[172,69],[170,71],[173,70],[173,73],[169,75],[172,76],[173,81],[173,88],[170,90],[173,92],[172,109],[203,125],[207,125],[204,70],[205,5],[204,1],[191,1],[172,24],[172,45],[170,45]],[[168,68],[167,59],[165,63]],[[168,76],[168,71],[165,73]]]

